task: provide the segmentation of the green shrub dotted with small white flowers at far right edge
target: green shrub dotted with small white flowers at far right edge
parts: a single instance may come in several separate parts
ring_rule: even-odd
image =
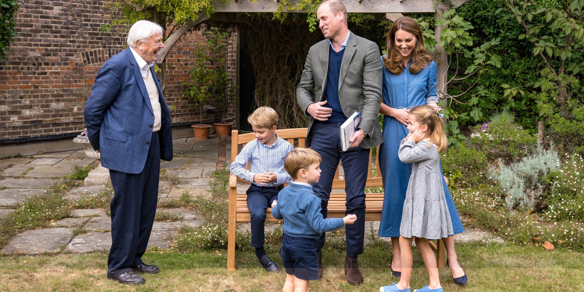
[[[584,160],[574,155],[564,161],[559,169],[545,176],[549,185],[543,196],[547,210],[543,215],[550,221],[584,221]]]

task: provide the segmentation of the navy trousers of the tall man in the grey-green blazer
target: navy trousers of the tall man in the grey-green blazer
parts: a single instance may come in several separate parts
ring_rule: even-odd
[[[312,184],[314,194],[322,200],[322,216],[326,218],[328,200],[331,196],[332,180],[335,176],[339,160],[343,163],[345,173],[345,192],[347,193],[346,212],[357,215],[357,221],[345,225],[347,255],[355,258],[363,253],[363,238],[365,234],[365,183],[369,164],[369,149],[355,147],[343,151],[340,144],[342,123],[314,123],[310,129],[312,142],[310,148],[322,157],[321,178]],[[325,234],[317,239],[317,252],[325,245]]]

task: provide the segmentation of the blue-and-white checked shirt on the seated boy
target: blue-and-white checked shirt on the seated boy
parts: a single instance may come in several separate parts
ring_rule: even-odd
[[[283,183],[290,182],[292,178],[284,171],[284,160],[288,152],[294,148],[288,141],[277,137],[277,134],[274,135],[276,135],[276,142],[272,146],[262,144],[258,142],[258,139],[249,141],[237,157],[235,157],[235,161],[232,162],[230,167],[231,173],[256,186],[279,186]],[[251,161],[249,163],[249,171],[245,169],[248,161]],[[269,182],[266,185],[253,182],[253,176],[264,172],[276,173],[278,176],[276,182]]]

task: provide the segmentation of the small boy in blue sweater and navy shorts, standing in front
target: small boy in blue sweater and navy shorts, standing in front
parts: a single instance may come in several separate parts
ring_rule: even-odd
[[[283,292],[306,291],[308,281],[318,280],[316,240],[322,232],[337,230],[357,220],[354,214],[344,218],[322,218],[321,199],[312,192],[311,183],[321,177],[321,155],[307,148],[288,153],[284,169],[293,181],[272,203],[272,215],[284,219],[280,256],[286,268]]]

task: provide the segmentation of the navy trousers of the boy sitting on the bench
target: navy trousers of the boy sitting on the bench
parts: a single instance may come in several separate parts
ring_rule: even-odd
[[[274,200],[278,199],[280,190],[266,189],[252,183],[245,193],[248,194],[247,203],[251,217],[252,247],[261,248],[265,241],[263,228],[266,222],[266,210],[267,207],[272,206]]]

